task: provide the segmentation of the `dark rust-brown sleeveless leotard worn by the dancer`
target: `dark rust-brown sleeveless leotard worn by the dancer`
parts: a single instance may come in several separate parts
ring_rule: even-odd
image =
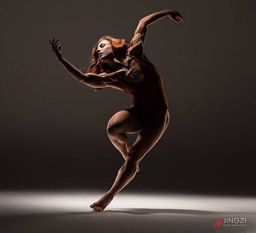
[[[132,95],[133,105],[131,108],[135,107],[141,112],[143,125],[145,125],[168,108],[162,77],[150,61],[130,54],[127,55],[140,66],[144,79],[139,83],[132,83],[119,75],[119,83],[124,92]],[[116,74],[118,75],[118,73]]]

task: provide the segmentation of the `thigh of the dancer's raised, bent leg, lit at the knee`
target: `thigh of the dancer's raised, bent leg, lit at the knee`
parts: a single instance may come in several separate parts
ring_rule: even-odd
[[[120,133],[136,133],[141,126],[141,112],[133,107],[116,112],[108,122],[108,129],[113,128]]]

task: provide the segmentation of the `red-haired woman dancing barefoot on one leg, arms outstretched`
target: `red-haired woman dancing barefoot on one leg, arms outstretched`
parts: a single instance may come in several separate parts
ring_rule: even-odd
[[[92,50],[89,73],[82,73],[63,58],[60,42],[55,38],[50,40],[58,61],[78,82],[95,90],[110,87],[132,95],[132,106],[117,112],[108,122],[109,139],[125,162],[110,190],[90,205],[95,211],[103,211],[113,197],[132,181],[139,171],[140,161],[168,126],[169,112],[162,78],[143,50],[147,26],[166,16],[174,22],[184,22],[177,10],[162,10],[140,20],[130,43],[124,39],[102,37]],[[136,132],[139,132],[136,141],[128,147],[127,133]]]

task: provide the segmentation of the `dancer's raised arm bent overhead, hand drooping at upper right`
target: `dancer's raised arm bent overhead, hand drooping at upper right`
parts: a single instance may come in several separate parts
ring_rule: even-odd
[[[131,47],[129,48],[128,52],[132,55],[142,56],[143,48],[144,48],[144,40],[147,33],[147,26],[157,22],[158,20],[166,16],[168,16],[170,19],[174,20],[177,23],[184,22],[183,17],[178,12],[178,10],[170,10],[170,9],[162,10],[160,12],[155,12],[148,16],[143,17],[140,20],[136,30],[134,31],[134,37],[131,40]]]

